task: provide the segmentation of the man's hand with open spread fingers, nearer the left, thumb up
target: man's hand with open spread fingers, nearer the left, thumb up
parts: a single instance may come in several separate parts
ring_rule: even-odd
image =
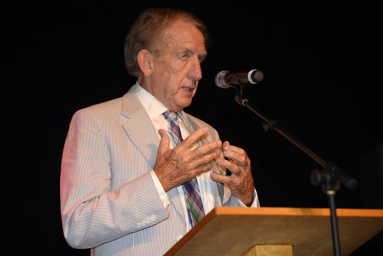
[[[222,142],[219,140],[191,149],[199,138],[207,134],[206,127],[193,132],[173,149],[169,148],[170,140],[167,133],[163,129],[158,132],[161,142],[153,170],[165,192],[191,180],[200,173],[211,170],[214,159],[220,154]]]

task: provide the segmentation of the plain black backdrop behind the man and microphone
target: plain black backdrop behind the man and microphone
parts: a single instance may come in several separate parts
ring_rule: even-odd
[[[269,3],[266,3],[269,2]],[[62,235],[59,176],[75,111],[122,96],[136,80],[124,69],[126,33],[144,7],[180,7],[208,26],[213,46],[185,109],[251,159],[262,206],[328,207],[310,173],[321,168],[234,101],[215,75],[262,70],[245,87],[252,107],[278,121],[318,156],[358,180],[341,185],[339,208],[383,208],[382,15],[367,1],[193,1],[36,3],[15,1],[3,20],[1,86],[5,222],[14,250],[90,255]],[[8,189],[9,186],[9,189]],[[9,200],[9,201],[8,201]],[[330,224],[329,224],[330,225]],[[352,255],[382,253],[382,232]]]

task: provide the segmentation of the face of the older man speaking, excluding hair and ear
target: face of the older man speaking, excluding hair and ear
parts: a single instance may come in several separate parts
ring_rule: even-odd
[[[145,89],[169,110],[179,112],[192,103],[207,52],[202,33],[192,24],[176,22],[165,38],[167,46],[153,58]]]

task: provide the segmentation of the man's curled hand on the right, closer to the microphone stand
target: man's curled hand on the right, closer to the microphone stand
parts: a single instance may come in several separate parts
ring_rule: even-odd
[[[211,173],[212,180],[228,184],[233,196],[248,205],[254,194],[254,181],[251,175],[250,159],[245,150],[224,142],[222,145],[223,156],[228,160],[219,158],[217,164],[231,172],[230,176]]]

